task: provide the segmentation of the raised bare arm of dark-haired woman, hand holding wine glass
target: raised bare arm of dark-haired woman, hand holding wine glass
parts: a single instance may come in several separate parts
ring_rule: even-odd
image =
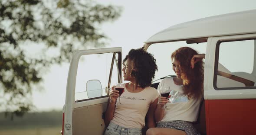
[[[108,102],[108,108],[107,111],[105,112],[105,117],[104,117],[104,122],[105,125],[108,125],[109,122],[113,119],[114,117],[114,111],[115,111],[115,101],[119,96],[119,91],[114,90],[114,87],[112,87],[112,91],[109,93],[109,102]]]

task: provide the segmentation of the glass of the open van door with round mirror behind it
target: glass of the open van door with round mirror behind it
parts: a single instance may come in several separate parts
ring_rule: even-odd
[[[112,57],[113,53],[80,57],[75,84],[75,101],[107,95],[105,90],[108,87]],[[115,70],[112,72],[112,78],[117,78],[116,68],[114,65]]]

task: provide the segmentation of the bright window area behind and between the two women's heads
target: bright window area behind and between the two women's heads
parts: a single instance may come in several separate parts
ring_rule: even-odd
[[[160,82],[161,80],[158,79],[160,79],[161,77],[165,77],[167,75],[176,75],[175,72],[172,70],[171,61],[171,54],[175,50],[181,47],[190,47],[196,50],[199,54],[201,54],[205,53],[206,46],[207,42],[202,42],[198,44],[187,44],[186,41],[166,42],[150,45],[147,51],[154,55],[154,58],[156,59],[156,63],[158,65],[158,71],[156,71],[154,78],[155,82]]]

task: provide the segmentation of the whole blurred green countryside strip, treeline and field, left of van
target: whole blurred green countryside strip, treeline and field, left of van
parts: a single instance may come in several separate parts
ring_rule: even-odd
[[[0,135],[60,135],[62,111],[26,113],[22,117],[0,112]]]

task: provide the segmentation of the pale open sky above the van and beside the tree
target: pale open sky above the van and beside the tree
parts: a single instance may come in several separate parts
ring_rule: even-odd
[[[100,28],[111,39],[106,48],[122,47],[123,56],[140,48],[155,33],[187,21],[256,9],[256,0],[97,0],[122,7],[121,16]],[[43,76],[43,90],[35,87],[36,111],[60,110],[65,103],[69,63],[53,65]]]

